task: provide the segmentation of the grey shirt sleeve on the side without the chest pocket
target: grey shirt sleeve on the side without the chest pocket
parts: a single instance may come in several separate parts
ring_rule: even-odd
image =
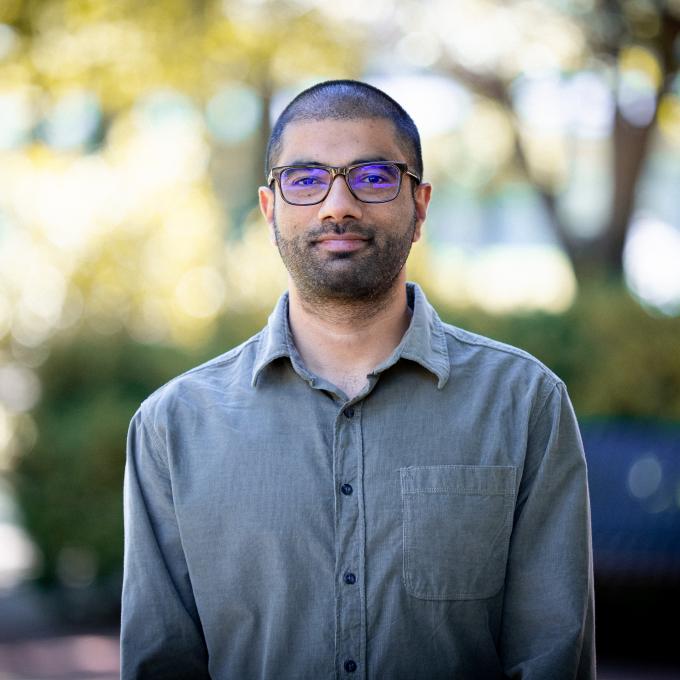
[[[164,446],[135,414],[123,491],[121,678],[209,678]]]

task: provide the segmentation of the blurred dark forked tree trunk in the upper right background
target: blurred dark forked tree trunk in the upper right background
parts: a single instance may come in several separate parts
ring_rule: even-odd
[[[528,3],[516,3],[517,6]],[[545,3],[551,5],[552,3]],[[498,102],[514,123],[514,160],[522,174],[533,184],[543,200],[559,242],[569,255],[578,278],[592,274],[620,277],[623,249],[635,207],[638,184],[651,151],[660,105],[678,83],[680,65],[680,4],[675,0],[594,0],[593,2],[555,3],[582,31],[587,43],[579,68],[600,60],[597,68],[611,67],[614,75],[614,125],[611,135],[611,176],[613,190],[609,217],[603,228],[591,237],[575,235],[558,210],[562,187],[532,165],[522,138],[519,116],[515,111],[513,85],[521,70],[475,69],[455,59],[444,58],[441,68],[484,98]],[[537,20],[540,17],[537,15]],[[535,27],[534,27],[535,29]],[[540,30],[540,29],[539,29]],[[642,75],[643,90],[630,93],[631,83]],[[639,85],[640,83],[637,83]],[[646,86],[646,87],[645,87]],[[651,94],[651,96],[650,96]],[[646,115],[627,115],[630,96],[649,97]],[[673,101],[677,93],[673,95]],[[638,99],[638,102],[640,101]],[[632,102],[633,105],[637,102]],[[592,105],[584,101],[582,106]],[[547,181],[546,181],[547,180]],[[602,191],[606,188],[602,187]]]

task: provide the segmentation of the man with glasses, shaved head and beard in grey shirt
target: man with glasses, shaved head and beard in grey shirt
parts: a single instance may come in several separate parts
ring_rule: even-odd
[[[267,173],[288,293],[130,427],[123,677],[594,677],[574,414],[406,283],[431,192],[412,120],[321,83]]]

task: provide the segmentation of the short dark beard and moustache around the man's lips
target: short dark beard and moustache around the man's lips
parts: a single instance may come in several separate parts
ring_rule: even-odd
[[[326,222],[286,239],[276,218],[274,234],[288,273],[308,303],[352,303],[386,298],[406,264],[416,228],[415,210],[396,233],[356,221]],[[325,234],[357,234],[366,245],[358,251],[328,252],[316,240]]]

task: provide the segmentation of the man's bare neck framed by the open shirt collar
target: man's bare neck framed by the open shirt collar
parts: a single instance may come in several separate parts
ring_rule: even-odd
[[[311,302],[292,281],[289,291],[290,327],[305,366],[350,398],[394,351],[411,319],[402,276],[379,300]]]

